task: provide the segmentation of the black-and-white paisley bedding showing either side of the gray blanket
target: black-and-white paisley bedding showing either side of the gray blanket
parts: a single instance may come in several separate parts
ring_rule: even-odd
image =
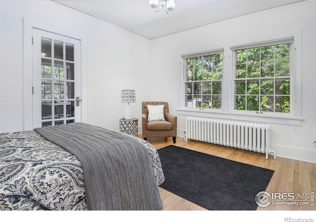
[[[157,149],[137,137],[164,181]],[[86,210],[82,165],[36,131],[0,134],[0,210]]]

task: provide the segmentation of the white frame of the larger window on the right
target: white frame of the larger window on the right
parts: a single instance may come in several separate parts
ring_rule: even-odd
[[[271,112],[271,111],[247,111],[247,110],[236,110],[235,109],[235,81],[238,80],[236,78],[236,50],[247,49],[247,48],[255,48],[255,47],[263,47],[275,44],[285,44],[290,43],[290,75],[284,76],[289,78],[290,80],[290,112]],[[295,84],[294,84],[294,37],[286,37],[269,41],[262,41],[250,44],[243,44],[232,46],[231,48],[232,54],[232,81],[231,81],[231,111],[233,114],[242,114],[242,115],[261,115],[261,116],[270,116],[270,117],[294,117],[294,106],[295,106]],[[274,77],[272,77],[274,78]],[[260,79],[260,78],[258,78]]]

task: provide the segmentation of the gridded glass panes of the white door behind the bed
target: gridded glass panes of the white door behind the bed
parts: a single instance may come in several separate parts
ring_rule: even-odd
[[[41,38],[42,127],[75,122],[74,45]]]

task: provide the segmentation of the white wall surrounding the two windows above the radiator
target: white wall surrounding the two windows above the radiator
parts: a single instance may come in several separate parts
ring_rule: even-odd
[[[208,117],[248,120],[272,125],[271,143],[283,157],[316,162],[316,1],[306,1],[210,24],[151,41],[152,100],[165,100],[178,114],[178,135],[185,131],[181,108],[181,55],[224,48],[223,111]],[[231,51],[235,45],[294,37],[295,117],[292,119],[233,115],[230,106]],[[297,119],[296,119],[297,118]],[[303,119],[302,121],[300,119]]]

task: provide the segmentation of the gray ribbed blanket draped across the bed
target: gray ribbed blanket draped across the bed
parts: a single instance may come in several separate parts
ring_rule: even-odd
[[[88,210],[162,210],[148,151],[133,138],[85,123],[34,130],[80,160]]]

